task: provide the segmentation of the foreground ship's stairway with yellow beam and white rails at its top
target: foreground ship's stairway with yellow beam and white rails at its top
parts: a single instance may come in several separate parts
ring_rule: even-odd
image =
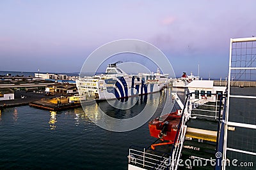
[[[218,131],[223,103],[220,101],[191,103],[188,106],[189,118],[185,118],[184,137],[178,138],[180,145],[173,150],[174,160],[170,169],[214,169],[218,147]],[[220,104],[221,103],[221,104]],[[193,106],[195,104],[195,106]],[[187,117],[188,117],[187,115]]]

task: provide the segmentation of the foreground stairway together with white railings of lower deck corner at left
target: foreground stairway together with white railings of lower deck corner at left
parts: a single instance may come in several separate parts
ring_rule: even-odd
[[[187,96],[175,145],[159,153],[131,147],[128,169],[214,169],[223,107],[220,102],[191,103]]]

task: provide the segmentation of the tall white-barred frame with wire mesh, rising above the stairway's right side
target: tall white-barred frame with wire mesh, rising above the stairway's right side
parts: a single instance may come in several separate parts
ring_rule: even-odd
[[[243,99],[256,99],[255,94],[250,94],[250,96],[241,96],[241,94],[236,94],[236,92],[230,92],[230,89],[232,87],[232,83],[234,79],[236,81],[243,80],[243,81],[255,81],[255,63],[256,63],[256,38],[237,38],[237,39],[230,39],[230,53],[229,53],[229,69],[228,69],[228,100],[227,100],[227,114],[225,117],[225,134],[224,134],[224,146],[223,146],[223,160],[227,160],[227,150],[230,152],[236,152],[236,153],[243,153],[247,154],[246,157],[250,158],[250,156],[255,157],[256,153],[253,152],[255,150],[252,150],[252,148],[246,148],[243,150],[238,148],[232,148],[228,147],[228,126],[236,127],[238,128],[244,128],[244,134],[241,134],[241,137],[243,139],[243,136],[246,134],[246,130],[250,131],[252,129],[256,129],[255,124],[246,124],[243,121],[241,122],[233,122],[230,116],[234,115],[235,113],[230,112],[234,106],[232,106],[230,99],[236,99],[236,98],[243,98]],[[239,53],[236,53],[236,52]],[[248,53],[250,51],[250,53]],[[243,59],[241,58],[243,56]],[[234,64],[235,63],[235,64]],[[233,77],[234,75],[234,77]],[[241,90],[242,92],[242,90]],[[247,101],[246,101],[247,102]],[[246,103],[245,102],[245,103]],[[253,104],[255,101],[252,102]],[[252,106],[253,108],[253,106]],[[254,106],[255,108],[255,106]],[[243,111],[243,110],[242,110]],[[234,112],[234,111],[233,111]],[[255,117],[250,117],[255,118]],[[230,120],[231,119],[231,120]],[[243,117],[241,118],[243,120]],[[250,136],[253,138],[252,136]],[[238,138],[237,138],[238,139]],[[243,141],[241,142],[241,145],[243,145]],[[252,150],[252,152],[248,151]],[[233,159],[236,157],[233,157]],[[252,159],[253,160],[253,159]],[[223,166],[222,169],[226,169],[226,166]]]

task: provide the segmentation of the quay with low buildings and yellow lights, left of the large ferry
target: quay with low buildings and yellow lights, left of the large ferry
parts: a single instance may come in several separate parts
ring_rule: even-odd
[[[0,109],[29,105],[49,111],[60,111],[79,108],[80,101],[86,104],[95,103],[94,97],[86,97],[87,100],[85,100],[75,94],[77,94],[76,85],[69,83],[55,83],[47,80],[28,81],[26,78],[1,80]]]

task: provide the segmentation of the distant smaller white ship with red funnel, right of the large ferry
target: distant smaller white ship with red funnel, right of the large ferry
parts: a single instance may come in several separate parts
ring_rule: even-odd
[[[186,85],[188,85],[193,80],[199,80],[199,76],[194,76],[192,72],[191,75],[188,76],[186,72],[183,72],[180,78],[175,78],[173,80],[173,87],[186,88]]]

